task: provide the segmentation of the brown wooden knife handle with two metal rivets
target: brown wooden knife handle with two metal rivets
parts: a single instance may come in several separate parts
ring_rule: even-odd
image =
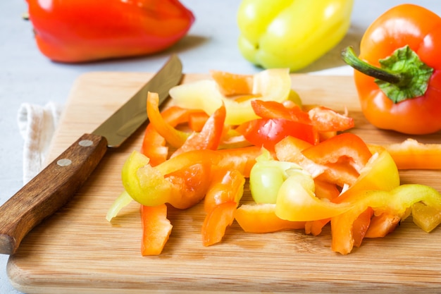
[[[12,255],[25,235],[81,187],[106,153],[107,140],[85,134],[0,207],[0,253]]]

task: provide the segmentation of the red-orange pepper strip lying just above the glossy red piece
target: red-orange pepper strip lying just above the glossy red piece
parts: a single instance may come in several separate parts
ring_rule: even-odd
[[[275,101],[253,100],[251,106],[254,113],[261,118],[285,118],[289,121],[297,121],[299,123],[311,124],[309,114],[302,111],[297,104],[282,104]]]

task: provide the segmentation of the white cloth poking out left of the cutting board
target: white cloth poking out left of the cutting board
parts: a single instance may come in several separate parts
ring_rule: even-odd
[[[61,111],[62,106],[54,102],[49,102],[45,106],[23,103],[18,109],[18,128],[25,141],[24,184],[42,170]]]

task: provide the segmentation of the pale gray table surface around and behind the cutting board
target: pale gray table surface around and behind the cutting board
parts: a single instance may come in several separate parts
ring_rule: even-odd
[[[430,8],[441,15],[441,1],[409,1]],[[104,61],[81,65],[54,63],[36,47],[32,24],[22,19],[27,11],[25,0],[0,1],[0,204],[23,185],[23,138],[17,125],[20,104],[64,104],[70,87],[82,73],[90,71],[153,72],[161,68],[169,54],[177,53],[185,73],[208,73],[211,69],[233,73],[256,73],[237,49],[239,30],[236,11],[239,0],[182,0],[193,11],[196,22],[187,37],[173,48],[136,59]],[[352,75],[340,61],[340,49],[357,47],[366,27],[383,11],[404,1],[355,0],[352,26],[347,36],[323,58],[302,73]],[[19,293],[11,286],[6,273],[7,255],[0,255],[0,293]]]

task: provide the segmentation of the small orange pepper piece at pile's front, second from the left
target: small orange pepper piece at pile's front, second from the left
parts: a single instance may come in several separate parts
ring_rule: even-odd
[[[219,204],[206,216],[202,225],[202,243],[204,246],[221,242],[225,229],[235,219],[237,203],[225,202]]]

